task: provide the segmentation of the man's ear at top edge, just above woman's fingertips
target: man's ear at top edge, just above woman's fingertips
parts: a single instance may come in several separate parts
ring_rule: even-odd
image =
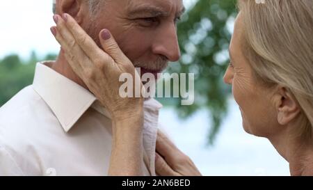
[[[56,0],[56,7],[59,15],[67,13],[71,15],[79,24],[81,22],[81,9],[83,8],[81,0]]]

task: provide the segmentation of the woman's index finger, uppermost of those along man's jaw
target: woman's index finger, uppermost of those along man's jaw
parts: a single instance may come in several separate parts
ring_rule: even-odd
[[[88,33],[84,31],[76,20],[67,13],[63,14],[65,25],[67,29],[72,33],[77,44],[83,49],[83,52],[95,63],[99,56],[103,56],[105,52],[100,49],[93,38],[90,38]]]

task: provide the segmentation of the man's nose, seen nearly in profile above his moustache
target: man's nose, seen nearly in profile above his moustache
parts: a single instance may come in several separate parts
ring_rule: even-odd
[[[152,51],[154,54],[165,56],[168,61],[178,61],[180,58],[180,50],[176,26],[171,24],[171,26],[164,28],[155,36]]]

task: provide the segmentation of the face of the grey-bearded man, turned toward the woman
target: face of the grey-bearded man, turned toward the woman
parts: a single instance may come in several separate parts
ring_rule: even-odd
[[[176,22],[182,0],[105,0],[101,6],[93,22],[86,17],[82,24],[98,45],[99,31],[109,29],[141,74],[156,74],[179,60]]]

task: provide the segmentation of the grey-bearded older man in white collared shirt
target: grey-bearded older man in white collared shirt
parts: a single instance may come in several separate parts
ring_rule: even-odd
[[[101,47],[106,28],[142,74],[179,59],[176,22],[182,0],[56,0],[56,14],[70,14]],[[54,17],[55,21],[57,17]],[[56,21],[57,22],[57,21]],[[155,175],[158,112],[145,101],[144,175]],[[73,72],[63,51],[38,63],[33,85],[0,109],[0,175],[108,175],[111,116]]]

